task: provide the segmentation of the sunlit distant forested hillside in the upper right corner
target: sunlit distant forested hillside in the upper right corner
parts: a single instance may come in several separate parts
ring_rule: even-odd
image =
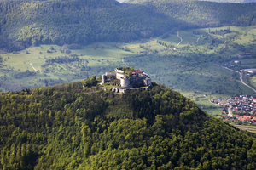
[[[179,20],[183,29],[192,26],[256,25],[256,3],[213,3],[196,0],[128,0]]]

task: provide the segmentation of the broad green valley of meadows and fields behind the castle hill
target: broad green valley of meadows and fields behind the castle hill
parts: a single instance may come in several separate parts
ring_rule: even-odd
[[[166,38],[98,42],[78,49],[68,48],[69,53],[64,46],[30,47],[1,54],[0,91],[50,86],[92,75],[100,77],[117,66],[133,65],[147,72],[154,82],[179,91],[216,115],[218,109],[211,110],[216,105],[203,94],[208,99],[218,99],[253,94],[253,90],[241,84],[238,73],[212,63],[234,70],[255,68],[254,35],[253,26],[224,26],[210,28],[210,33],[209,28],[181,30],[179,36],[183,42],[178,46],[180,38],[177,31],[172,31]],[[241,53],[251,55],[239,56]],[[235,60],[240,63],[234,65]],[[256,85],[256,78],[250,77],[250,82]]]

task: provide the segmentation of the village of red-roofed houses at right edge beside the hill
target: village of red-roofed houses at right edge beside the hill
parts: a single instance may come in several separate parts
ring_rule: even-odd
[[[222,118],[226,121],[256,123],[256,95],[241,94],[239,97],[211,101],[223,106]]]

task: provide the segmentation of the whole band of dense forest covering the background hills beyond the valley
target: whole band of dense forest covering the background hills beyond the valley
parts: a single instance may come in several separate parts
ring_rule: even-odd
[[[256,24],[255,8],[255,3],[193,0],[0,1],[0,48],[5,52],[42,43],[131,42],[175,27],[250,26]]]

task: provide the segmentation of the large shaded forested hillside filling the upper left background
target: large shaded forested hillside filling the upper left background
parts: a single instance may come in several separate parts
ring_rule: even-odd
[[[177,26],[168,22],[172,17],[115,0],[3,1],[0,16],[3,36],[33,45],[129,42]]]

